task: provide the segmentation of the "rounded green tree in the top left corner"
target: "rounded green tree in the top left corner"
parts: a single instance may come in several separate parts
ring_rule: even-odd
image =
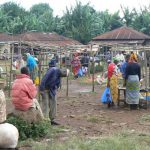
[[[3,32],[21,33],[24,28],[26,11],[13,2],[4,3],[0,7],[0,27]]]

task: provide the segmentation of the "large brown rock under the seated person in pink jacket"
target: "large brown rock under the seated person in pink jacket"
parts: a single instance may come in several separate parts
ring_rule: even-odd
[[[20,111],[20,110],[14,109],[13,112],[9,114],[9,116],[11,115],[19,117],[27,121],[28,123],[38,123],[43,120],[43,117],[41,116],[39,111],[36,110],[35,108],[31,108],[27,111]]]

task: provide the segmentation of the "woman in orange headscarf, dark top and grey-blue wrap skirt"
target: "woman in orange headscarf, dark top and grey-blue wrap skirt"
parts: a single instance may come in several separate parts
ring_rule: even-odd
[[[130,105],[131,109],[137,108],[137,104],[139,104],[141,67],[137,63],[137,57],[134,57],[134,55],[131,55],[129,63],[127,64],[125,79],[126,103]]]

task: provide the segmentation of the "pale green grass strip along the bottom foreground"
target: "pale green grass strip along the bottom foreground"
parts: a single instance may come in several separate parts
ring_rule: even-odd
[[[150,135],[128,133],[96,139],[73,137],[65,142],[32,142],[32,150],[149,150],[149,147]]]

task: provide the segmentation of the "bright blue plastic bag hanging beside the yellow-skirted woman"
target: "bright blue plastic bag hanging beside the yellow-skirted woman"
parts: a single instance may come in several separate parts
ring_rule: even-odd
[[[108,103],[111,103],[112,102],[112,97],[111,97],[111,93],[110,93],[110,88],[109,87],[106,87],[103,94],[102,94],[102,97],[101,97],[101,102],[104,103],[104,104],[108,104]]]

